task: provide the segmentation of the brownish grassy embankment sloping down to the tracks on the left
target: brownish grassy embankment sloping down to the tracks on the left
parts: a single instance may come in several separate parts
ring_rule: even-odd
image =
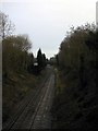
[[[37,90],[45,75],[46,70],[39,75],[33,75],[28,72],[10,72],[8,78],[3,78],[3,122],[16,112],[17,105],[25,98],[27,93]]]

